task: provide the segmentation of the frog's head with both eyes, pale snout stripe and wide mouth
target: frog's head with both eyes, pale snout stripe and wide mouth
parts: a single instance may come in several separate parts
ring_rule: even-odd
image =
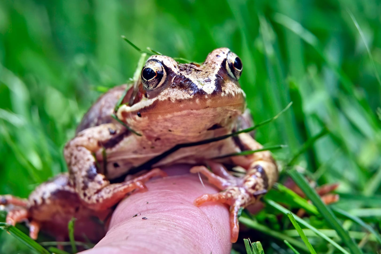
[[[202,65],[151,56],[117,117],[136,131],[150,133],[231,129],[246,105],[238,83],[241,72],[240,58],[228,48],[213,50]]]

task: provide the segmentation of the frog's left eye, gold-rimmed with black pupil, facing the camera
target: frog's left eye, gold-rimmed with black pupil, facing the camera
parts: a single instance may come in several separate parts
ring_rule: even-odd
[[[153,90],[161,86],[166,78],[162,62],[157,59],[149,59],[141,73],[142,83],[147,90]]]

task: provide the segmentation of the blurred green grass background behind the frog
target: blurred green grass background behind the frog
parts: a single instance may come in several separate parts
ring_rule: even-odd
[[[2,0],[0,194],[26,197],[66,171],[62,148],[82,115],[133,75],[139,53],[125,35],[196,62],[229,47],[257,123],[294,103],[256,133],[262,144],[288,145],[275,152],[280,165],[327,128],[298,168],[319,184],[339,182],[346,210],[379,207],[380,27],[378,0]],[[6,233],[0,252],[28,253]],[[266,253],[283,252],[269,244]]]

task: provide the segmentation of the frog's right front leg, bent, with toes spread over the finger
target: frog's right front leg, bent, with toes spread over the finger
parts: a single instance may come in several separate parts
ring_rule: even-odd
[[[239,134],[239,146],[242,150],[258,150],[263,148],[250,135]],[[246,169],[243,177],[232,177],[222,165],[211,163],[209,171],[205,166],[195,166],[192,173],[201,173],[208,181],[223,192],[215,194],[204,194],[197,198],[194,203],[198,206],[205,202],[214,201],[230,206],[231,241],[235,243],[238,239],[239,222],[238,214],[240,208],[245,208],[255,203],[261,195],[265,194],[277,181],[278,170],[274,159],[269,151],[253,153],[247,156],[235,156],[231,158],[235,165]]]

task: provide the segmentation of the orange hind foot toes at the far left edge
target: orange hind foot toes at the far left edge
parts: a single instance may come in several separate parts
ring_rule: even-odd
[[[0,205],[5,206],[5,210],[8,211],[6,215],[6,223],[10,225],[16,225],[16,223],[28,220],[30,216],[28,210],[28,201],[26,199],[17,198],[12,195],[0,196]],[[40,231],[40,225],[38,222],[32,220],[29,223],[29,236],[36,240],[38,232]]]

